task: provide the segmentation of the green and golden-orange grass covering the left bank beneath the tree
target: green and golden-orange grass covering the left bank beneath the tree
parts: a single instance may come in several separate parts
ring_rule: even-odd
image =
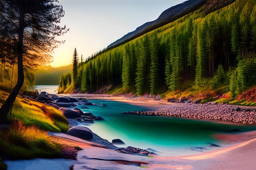
[[[1,106],[9,93],[0,91],[0,94]],[[68,130],[68,121],[61,111],[34,100],[16,97],[7,117],[11,128],[9,132],[0,131],[0,152],[20,159],[56,157],[60,153],[61,145],[52,142],[47,132]]]

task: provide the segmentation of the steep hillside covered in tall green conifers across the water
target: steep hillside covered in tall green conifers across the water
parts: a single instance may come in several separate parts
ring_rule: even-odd
[[[79,64],[76,88],[118,87],[112,92],[137,95],[208,88],[235,97],[255,86],[256,0],[231,2],[207,0],[169,24],[92,56]],[[61,92],[74,90],[71,86],[60,82]]]

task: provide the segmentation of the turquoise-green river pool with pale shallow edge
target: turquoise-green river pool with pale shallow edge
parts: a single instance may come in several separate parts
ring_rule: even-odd
[[[145,109],[111,100],[90,100],[90,102],[107,105],[86,105],[89,109],[81,109],[105,119],[105,121],[95,121],[90,125],[86,124],[97,135],[110,142],[112,139],[121,139],[126,143],[126,146],[152,148],[160,152],[172,152],[190,147],[207,147],[209,146],[208,143],[220,144],[220,141],[217,141],[213,135],[231,133],[228,131],[234,129],[256,130],[256,126],[221,124],[172,117],[125,115],[121,113]]]

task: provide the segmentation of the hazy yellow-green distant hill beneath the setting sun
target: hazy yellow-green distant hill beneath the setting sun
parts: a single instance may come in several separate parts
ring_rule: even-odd
[[[72,64],[62,67],[40,66],[35,73],[36,85],[56,85],[62,74],[72,71]]]

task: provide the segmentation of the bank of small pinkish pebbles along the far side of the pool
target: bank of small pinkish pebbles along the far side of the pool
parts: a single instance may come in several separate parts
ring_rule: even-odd
[[[158,110],[126,112],[131,115],[182,117],[256,124],[256,109],[239,108],[230,104],[180,104]]]

